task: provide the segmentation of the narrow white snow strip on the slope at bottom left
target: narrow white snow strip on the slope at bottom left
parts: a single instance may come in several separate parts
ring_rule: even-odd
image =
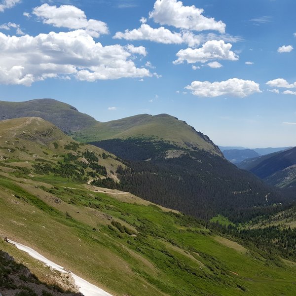
[[[64,267],[50,261],[49,259],[45,258],[44,256],[37,253],[35,250],[24,246],[22,244],[16,243],[10,239],[7,239],[7,241],[13,245],[15,245],[19,250],[25,251],[28,253],[31,257],[42,261],[47,266],[51,266],[53,269],[56,269],[60,272],[67,273],[68,271],[65,270]],[[75,284],[79,287],[80,293],[82,293],[84,296],[112,296],[111,294],[105,292],[104,290],[100,289],[99,287],[83,280],[79,276],[75,275],[73,272],[70,271],[70,274],[75,280]]]

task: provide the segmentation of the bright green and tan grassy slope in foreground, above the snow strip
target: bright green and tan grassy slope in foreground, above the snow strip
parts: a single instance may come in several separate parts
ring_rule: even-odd
[[[36,188],[36,182],[16,185],[1,178],[0,184],[2,234],[114,295],[294,293],[295,269],[269,265],[158,207],[79,189],[60,187],[53,194]],[[16,193],[21,198],[12,196]],[[55,204],[54,196],[63,201]],[[108,228],[110,217],[130,229],[136,226],[137,236]]]

